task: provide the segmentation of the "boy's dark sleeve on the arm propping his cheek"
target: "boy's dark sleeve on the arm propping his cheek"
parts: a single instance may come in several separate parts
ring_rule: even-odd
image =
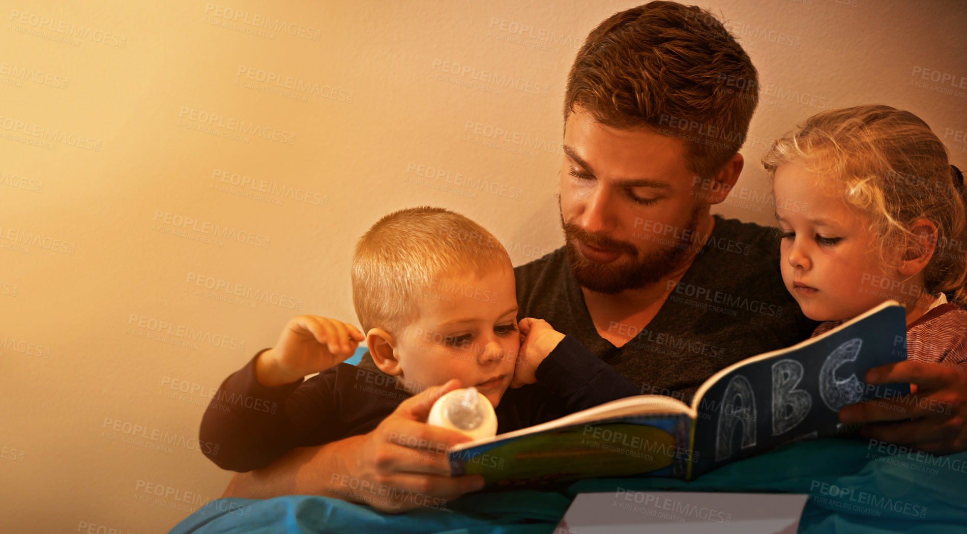
[[[570,412],[641,394],[634,382],[571,336],[547,354],[535,377],[564,399]]]

